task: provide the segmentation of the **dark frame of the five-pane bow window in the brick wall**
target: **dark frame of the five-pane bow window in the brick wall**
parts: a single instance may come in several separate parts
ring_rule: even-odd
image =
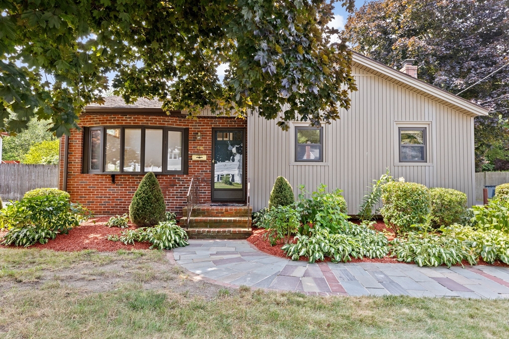
[[[106,167],[106,130],[107,129],[120,129],[120,170],[117,172],[105,171]],[[141,129],[141,138],[142,142],[140,145],[140,169],[142,171],[138,172],[127,172],[124,171],[124,146],[125,146],[125,130],[126,129]],[[167,127],[167,126],[151,126],[151,125],[104,125],[104,126],[94,126],[94,127],[84,127],[83,128],[83,156],[82,156],[82,173],[89,174],[126,174],[126,175],[144,175],[148,173],[145,171],[145,131],[149,130],[162,130],[162,171],[154,172],[156,175],[161,174],[184,174],[187,175],[189,172],[189,128],[180,128],[180,127]],[[100,130],[101,131],[101,143],[100,143],[100,169],[99,170],[91,170],[90,169],[90,157],[91,157],[91,131]],[[168,131],[176,131],[181,132],[181,145],[182,145],[182,166],[179,171],[168,171],[167,170],[167,157],[168,157]]]

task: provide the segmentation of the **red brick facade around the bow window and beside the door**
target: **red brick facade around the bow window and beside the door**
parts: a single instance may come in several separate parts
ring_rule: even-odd
[[[202,178],[200,183],[201,203],[210,202],[212,176],[212,128],[246,128],[247,122],[242,119],[226,117],[199,117],[190,120],[174,116],[149,116],[98,113],[84,115],[80,127],[92,126],[128,126],[148,125],[189,128],[189,174],[157,175],[164,195],[167,210],[182,215],[186,204],[186,194],[192,177]],[[202,134],[196,140],[197,133]],[[64,180],[64,141],[60,147],[59,187],[63,188]],[[203,146],[202,149],[197,147]],[[69,138],[69,158],[67,172],[67,192],[72,201],[82,203],[96,215],[122,214],[128,212],[132,196],[143,175],[116,174],[115,183],[109,174],[81,174],[83,153],[83,131],[73,130]],[[193,161],[193,154],[207,155],[207,161]]]

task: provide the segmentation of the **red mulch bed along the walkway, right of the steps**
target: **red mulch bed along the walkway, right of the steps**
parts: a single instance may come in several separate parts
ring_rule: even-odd
[[[353,220],[352,222],[354,222],[356,224],[359,224],[359,222],[355,221],[355,220]],[[383,231],[390,232],[392,235],[388,235],[387,239],[389,241],[394,239],[394,235],[393,235],[394,233],[381,220],[377,220],[376,224],[373,225],[373,229],[375,229],[376,231],[379,231],[379,232],[383,232]],[[274,246],[271,246],[270,242],[268,241],[268,239],[266,239],[264,237],[264,234],[268,232],[266,229],[253,227],[252,231],[253,231],[253,234],[249,238],[247,238],[247,241],[250,242],[251,244],[253,244],[254,246],[256,246],[257,249],[259,249],[260,251],[262,251],[264,253],[273,255],[275,257],[288,258],[286,256],[285,252],[283,250],[281,250],[281,246],[285,244],[283,241],[279,240],[279,241],[277,241],[277,243]],[[293,237],[290,238],[290,241],[292,243],[294,242]],[[309,261],[309,258],[307,258],[307,257],[300,257],[299,261]],[[325,262],[330,262],[331,259],[329,257],[325,257],[324,261]],[[320,262],[320,261],[317,261],[317,262]],[[391,258],[391,257],[374,258],[374,259],[370,259],[370,258],[355,259],[355,258],[352,258],[349,262],[376,262],[376,263],[393,263],[393,264],[413,264],[413,262],[406,263],[406,262],[398,261],[398,260],[396,260],[394,258]],[[462,264],[464,266],[470,266],[470,264],[466,260],[463,260]],[[495,261],[493,264],[489,264],[489,263],[487,263],[486,261],[484,261],[481,258],[477,259],[477,265],[488,265],[488,266],[491,265],[491,266],[509,267],[509,265],[507,265],[506,263],[503,263],[501,261]],[[454,266],[461,266],[461,264],[456,264]]]

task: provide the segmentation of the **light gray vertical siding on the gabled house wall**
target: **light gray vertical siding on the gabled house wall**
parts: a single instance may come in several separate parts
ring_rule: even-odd
[[[254,209],[267,206],[278,175],[285,176],[295,194],[299,184],[309,191],[324,183],[344,191],[348,212],[356,214],[366,187],[389,168],[392,176],[428,187],[462,191],[474,204],[473,118],[438,104],[413,91],[354,68],[358,91],[352,107],[325,129],[327,166],[290,165],[290,133],[275,121],[256,114],[248,117],[248,176]],[[433,164],[394,166],[394,121],[432,121],[429,133]]]

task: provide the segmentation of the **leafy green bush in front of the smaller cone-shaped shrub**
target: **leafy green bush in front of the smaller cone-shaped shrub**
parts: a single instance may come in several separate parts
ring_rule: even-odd
[[[269,239],[271,245],[275,245],[278,240],[288,243],[290,236],[297,231],[300,225],[300,211],[293,206],[272,206],[264,215],[260,227],[269,231],[265,236]]]

